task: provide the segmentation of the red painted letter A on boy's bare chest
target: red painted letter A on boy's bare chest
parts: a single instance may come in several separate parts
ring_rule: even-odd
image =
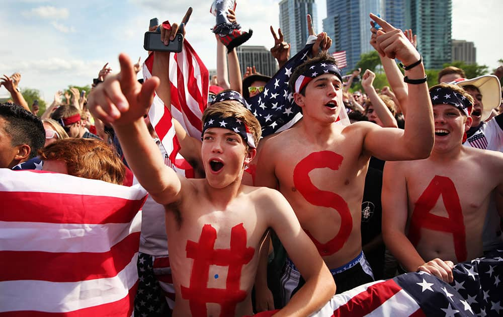
[[[445,210],[449,214],[447,218],[430,213],[440,195],[442,195]],[[458,192],[450,178],[436,175],[415,203],[408,232],[408,238],[414,247],[421,240],[421,228],[452,233],[456,258],[458,262],[466,261],[466,231],[463,213]]]

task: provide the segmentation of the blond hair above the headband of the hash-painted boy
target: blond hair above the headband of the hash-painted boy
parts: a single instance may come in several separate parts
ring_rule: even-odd
[[[262,128],[259,120],[241,103],[233,100],[224,100],[208,106],[203,113],[203,124],[206,122],[208,116],[215,115],[222,118],[232,117],[241,120],[248,127],[251,135],[253,135],[255,144],[259,145],[260,137],[262,136]]]

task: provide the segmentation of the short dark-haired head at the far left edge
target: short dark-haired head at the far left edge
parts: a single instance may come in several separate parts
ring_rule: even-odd
[[[12,169],[44,147],[42,121],[15,104],[0,104],[0,168]]]

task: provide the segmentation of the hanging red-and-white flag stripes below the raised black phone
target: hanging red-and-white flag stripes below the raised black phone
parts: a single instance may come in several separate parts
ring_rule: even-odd
[[[152,76],[153,60],[154,54],[150,54],[143,63],[145,80]],[[186,176],[189,176],[192,168],[178,153],[180,143],[172,118],[177,119],[189,135],[201,137],[201,118],[208,103],[209,72],[187,40],[182,52],[170,56],[170,82],[171,113],[156,95],[148,117],[174,165],[171,167],[185,170]]]

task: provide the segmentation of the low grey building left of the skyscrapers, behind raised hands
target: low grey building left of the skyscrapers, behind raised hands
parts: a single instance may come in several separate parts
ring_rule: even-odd
[[[237,58],[241,73],[244,74],[247,66],[255,66],[257,71],[268,76],[273,76],[278,71],[276,59],[264,46],[238,46],[236,48]]]

